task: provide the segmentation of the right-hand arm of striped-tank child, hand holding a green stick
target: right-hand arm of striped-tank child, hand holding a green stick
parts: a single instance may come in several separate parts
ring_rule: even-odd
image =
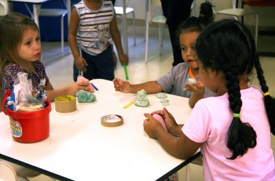
[[[111,37],[113,38],[113,41],[115,42],[115,47],[118,50],[118,57],[120,58],[120,63],[123,65],[123,63],[128,64],[129,58],[124,54],[122,43],[121,43],[121,36],[120,31],[118,30],[118,25],[116,23],[116,17],[113,16],[113,19],[110,23],[110,33]]]

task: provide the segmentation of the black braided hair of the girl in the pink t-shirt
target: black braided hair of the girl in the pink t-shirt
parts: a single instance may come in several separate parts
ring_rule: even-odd
[[[239,76],[249,75],[255,68],[263,93],[268,92],[254,40],[242,23],[232,20],[212,23],[201,32],[195,48],[203,69],[223,72],[232,113],[241,112]],[[275,134],[274,99],[270,95],[266,95],[264,99],[270,130]],[[226,145],[232,152],[228,159],[234,160],[256,146],[256,132],[249,123],[243,123],[240,117],[233,117]]]

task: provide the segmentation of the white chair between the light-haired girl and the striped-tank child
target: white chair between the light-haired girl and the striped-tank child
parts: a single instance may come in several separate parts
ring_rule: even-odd
[[[65,9],[41,8],[39,16],[60,16],[61,17],[61,52],[64,53],[64,16],[68,13],[66,2],[63,0]]]

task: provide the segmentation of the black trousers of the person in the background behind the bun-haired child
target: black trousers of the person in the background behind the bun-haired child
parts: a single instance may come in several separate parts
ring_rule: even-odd
[[[192,0],[161,0],[162,12],[166,17],[168,25],[170,41],[173,49],[173,66],[184,62],[181,57],[181,49],[179,46],[179,37],[177,37],[177,28],[179,24],[190,16],[190,8]]]

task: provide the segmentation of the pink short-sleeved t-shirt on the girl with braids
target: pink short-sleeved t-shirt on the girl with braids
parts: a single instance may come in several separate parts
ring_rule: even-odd
[[[275,165],[270,145],[270,124],[267,120],[263,93],[251,86],[241,90],[241,121],[254,128],[257,145],[240,158],[226,147],[226,135],[232,122],[228,93],[201,99],[195,105],[182,131],[188,138],[203,143],[203,176],[205,180],[275,180]]]

